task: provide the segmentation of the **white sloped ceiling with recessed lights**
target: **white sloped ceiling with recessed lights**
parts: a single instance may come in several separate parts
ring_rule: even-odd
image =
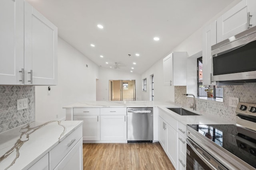
[[[117,62],[126,65],[118,70],[130,72],[134,67],[138,74],[233,1],[27,0],[58,27],[62,39],[98,66],[109,68]],[[160,40],[154,41],[154,37]]]

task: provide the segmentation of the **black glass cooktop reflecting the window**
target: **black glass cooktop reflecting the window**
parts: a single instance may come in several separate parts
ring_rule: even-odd
[[[256,132],[236,125],[188,125],[256,168]]]

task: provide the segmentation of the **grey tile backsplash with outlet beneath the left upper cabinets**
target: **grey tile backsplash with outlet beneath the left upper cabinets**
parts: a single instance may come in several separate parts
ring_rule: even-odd
[[[17,99],[28,108],[17,110]],[[0,133],[35,120],[35,86],[0,86]]]

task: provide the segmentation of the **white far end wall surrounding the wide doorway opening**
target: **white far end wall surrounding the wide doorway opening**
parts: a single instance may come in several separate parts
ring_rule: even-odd
[[[142,99],[142,79],[140,74],[100,67],[99,75],[99,80],[96,83],[97,101],[109,100],[109,80],[135,80],[136,100]]]

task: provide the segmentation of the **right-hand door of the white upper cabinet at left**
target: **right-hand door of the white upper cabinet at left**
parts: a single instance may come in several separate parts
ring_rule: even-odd
[[[58,29],[25,1],[24,84],[57,84]]]

